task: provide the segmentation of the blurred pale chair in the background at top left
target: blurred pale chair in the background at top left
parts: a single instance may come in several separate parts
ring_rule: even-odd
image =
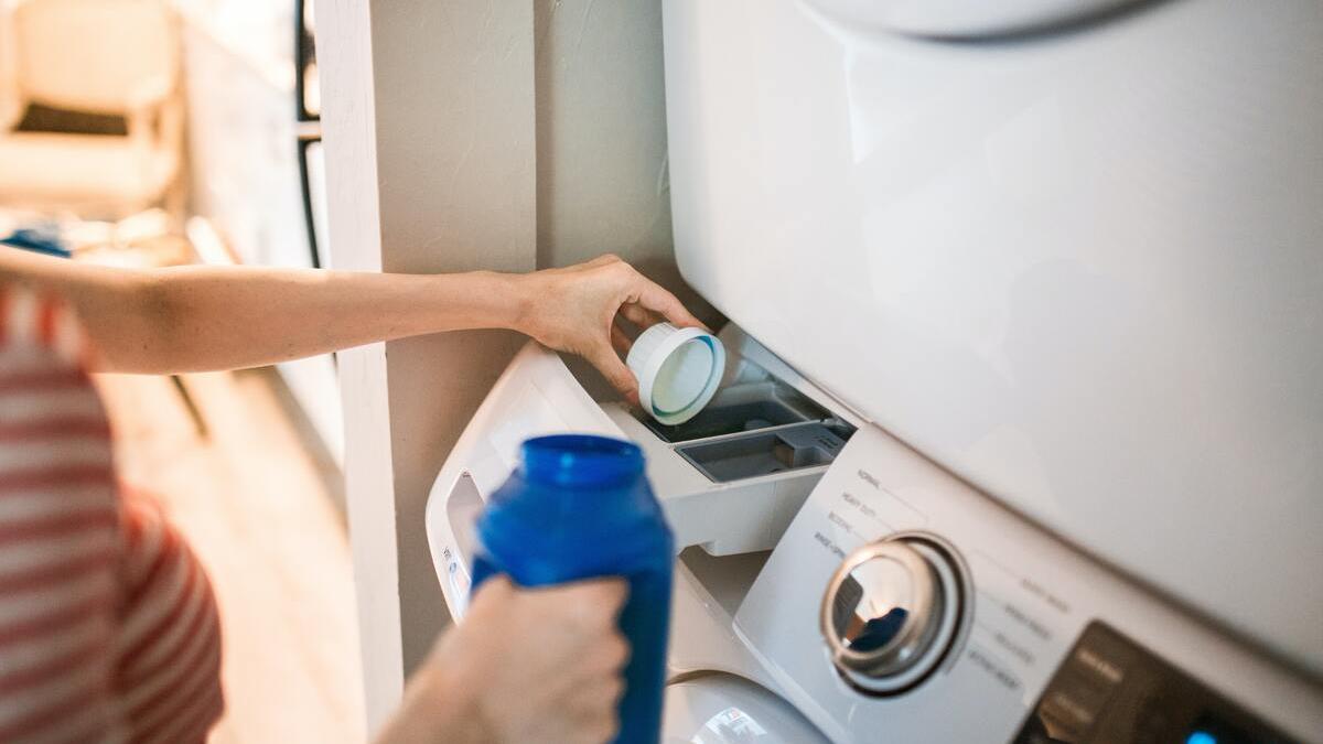
[[[13,131],[8,122],[0,205],[116,220],[164,204],[183,217],[179,26],[167,1],[20,0],[8,26],[20,110],[123,116],[127,134]]]

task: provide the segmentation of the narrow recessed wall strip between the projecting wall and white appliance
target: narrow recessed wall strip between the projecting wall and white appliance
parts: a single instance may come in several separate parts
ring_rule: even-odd
[[[537,0],[537,265],[618,253],[710,307],[675,266],[660,0]]]

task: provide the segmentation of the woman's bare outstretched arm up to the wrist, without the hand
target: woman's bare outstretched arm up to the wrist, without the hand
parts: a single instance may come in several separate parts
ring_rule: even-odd
[[[516,277],[247,266],[126,270],[5,250],[0,267],[58,294],[115,372],[258,367],[381,339],[511,327]]]

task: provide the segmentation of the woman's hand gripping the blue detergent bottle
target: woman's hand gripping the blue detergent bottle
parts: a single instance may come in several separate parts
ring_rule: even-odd
[[[377,744],[611,740],[628,643],[623,580],[520,589],[486,581],[409,680]]]

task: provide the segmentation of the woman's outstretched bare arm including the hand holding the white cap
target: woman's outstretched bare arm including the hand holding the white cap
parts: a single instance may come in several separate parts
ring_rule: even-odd
[[[376,274],[187,266],[126,270],[0,249],[0,277],[61,295],[119,372],[257,367],[377,340],[512,328],[593,361],[627,396],[618,312],[699,324],[615,257],[534,274]]]

